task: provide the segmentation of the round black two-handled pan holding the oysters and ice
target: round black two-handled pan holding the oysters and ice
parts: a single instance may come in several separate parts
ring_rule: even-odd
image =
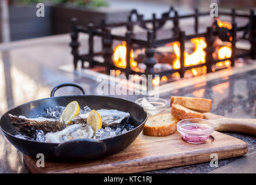
[[[54,92],[64,86],[78,87],[83,92],[83,95],[54,97]],[[129,146],[144,127],[145,121],[147,120],[145,110],[140,105],[137,105],[137,103],[125,99],[85,94],[85,90],[79,84],[59,84],[53,88],[50,98],[24,103],[3,114],[0,120],[0,128],[9,142],[22,153],[34,158],[36,158],[37,154],[42,153],[45,156],[45,161],[71,162],[93,160],[118,153]],[[43,108],[49,106],[66,106],[71,101],[78,101],[82,108],[87,105],[96,110],[116,109],[129,112],[131,124],[134,125],[134,129],[125,134],[104,140],[76,139],[61,144],[41,143],[14,137],[17,127],[10,123],[8,113],[15,116],[35,117],[39,112],[43,111]]]

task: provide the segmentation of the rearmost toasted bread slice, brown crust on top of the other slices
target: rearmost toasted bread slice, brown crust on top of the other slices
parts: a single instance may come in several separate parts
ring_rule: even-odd
[[[184,106],[185,108],[192,109],[198,112],[210,112],[211,99],[206,98],[193,98],[193,97],[174,97],[171,96],[171,103]]]

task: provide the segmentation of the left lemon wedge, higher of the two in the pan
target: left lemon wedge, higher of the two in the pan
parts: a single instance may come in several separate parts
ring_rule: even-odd
[[[79,110],[80,107],[77,101],[68,103],[60,116],[60,121],[63,121],[65,124],[71,124],[73,117],[79,114]]]

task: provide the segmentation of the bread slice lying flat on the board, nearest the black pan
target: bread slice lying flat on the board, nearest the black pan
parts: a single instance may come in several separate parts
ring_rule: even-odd
[[[179,120],[170,113],[158,114],[148,117],[143,134],[149,136],[167,136],[176,131],[176,124]]]

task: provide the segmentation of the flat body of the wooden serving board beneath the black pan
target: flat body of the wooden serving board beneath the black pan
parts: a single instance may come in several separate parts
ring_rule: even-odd
[[[212,153],[217,153],[219,160],[243,156],[247,149],[243,140],[217,131],[199,145],[186,143],[178,132],[165,137],[141,133],[125,150],[101,160],[45,162],[44,168],[38,168],[36,159],[31,157],[24,155],[24,161],[33,173],[134,173],[211,161]]]

